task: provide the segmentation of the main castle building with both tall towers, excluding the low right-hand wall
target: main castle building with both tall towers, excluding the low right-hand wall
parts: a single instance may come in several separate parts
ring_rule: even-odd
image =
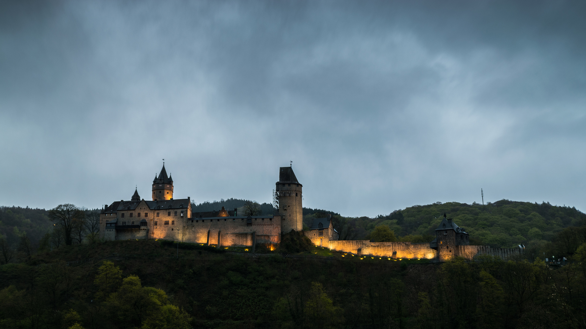
[[[281,234],[303,229],[302,185],[292,167],[281,167],[275,214],[239,216],[237,210],[193,213],[191,199],[173,198],[173,179],[165,165],[152,182],[152,200],[134,191],[130,201],[104,205],[100,237],[106,240],[169,239],[216,246],[278,244]]]

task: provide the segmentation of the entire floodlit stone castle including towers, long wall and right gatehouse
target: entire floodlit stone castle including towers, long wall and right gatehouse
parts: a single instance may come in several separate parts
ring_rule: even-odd
[[[237,210],[193,213],[191,199],[173,198],[173,179],[167,176],[165,165],[152,181],[152,200],[144,200],[134,191],[130,201],[105,204],[100,214],[100,238],[106,240],[168,239],[196,244],[246,246],[254,250],[257,244],[275,245],[281,235],[303,231],[302,184],[293,168],[280,167],[279,181],[275,183],[275,213],[272,215],[239,216]],[[336,251],[371,255],[380,258],[427,258],[447,261],[454,256],[472,259],[488,254],[508,258],[522,253],[522,249],[490,248],[469,245],[468,233],[451,218],[440,222],[431,242],[371,242],[339,241],[331,215],[316,218],[304,231],[314,245]]]

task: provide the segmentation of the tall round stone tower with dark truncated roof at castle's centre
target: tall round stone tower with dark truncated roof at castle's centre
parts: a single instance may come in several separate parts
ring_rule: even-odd
[[[278,200],[279,214],[282,216],[281,231],[283,233],[303,231],[303,205],[301,204],[301,187],[293,173],[292,167],[279,169],[279,181],[275,189]]]

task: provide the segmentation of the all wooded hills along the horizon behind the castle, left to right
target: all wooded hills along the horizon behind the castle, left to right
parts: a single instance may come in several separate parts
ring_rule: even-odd
[[[227,210],[242,207],[247,200],[229,198],[192,204],[193,211]],[[261,204],[263,214],[274,213],[270,203]],[[342,239],[369,239],[370,232],[378,225],[389,225],[403,241],[424,242],[435,235],[434,229],[444,213],[454,218],[456,224],[470,234],[472,244],[509,248],[518,244],[545,244],[560,238],[560,234],[573,235],[570,231],[586,225],[586,214],[574,207],[500,200],[495,203],[465,204],[458,202],[413,205],[395,210],[388,215],[370,217],[343,217],[330,210],[303,208],[306,229],[313,218],[331,214]],[[47,210],[29,207],[0,207],[0,234],[10,245],[18,243],[26,232],[33,246],[53,228],[47,218]],[[569,233],[568,233],[569,232]],[[575,238],[576,241],[586,237]]]

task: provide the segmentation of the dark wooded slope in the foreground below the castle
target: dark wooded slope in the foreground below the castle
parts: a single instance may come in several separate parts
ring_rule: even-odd
[[[0,266],[0,327],[586,327],[586,244],[559,267],[492,258],[424,264],[332,251],[331,260],[245,258],[206,248],[179,249],[179,259],[35,266],[176,252],[171,242],[94,242]],[[311,248],[300,255],[327,251]]]

